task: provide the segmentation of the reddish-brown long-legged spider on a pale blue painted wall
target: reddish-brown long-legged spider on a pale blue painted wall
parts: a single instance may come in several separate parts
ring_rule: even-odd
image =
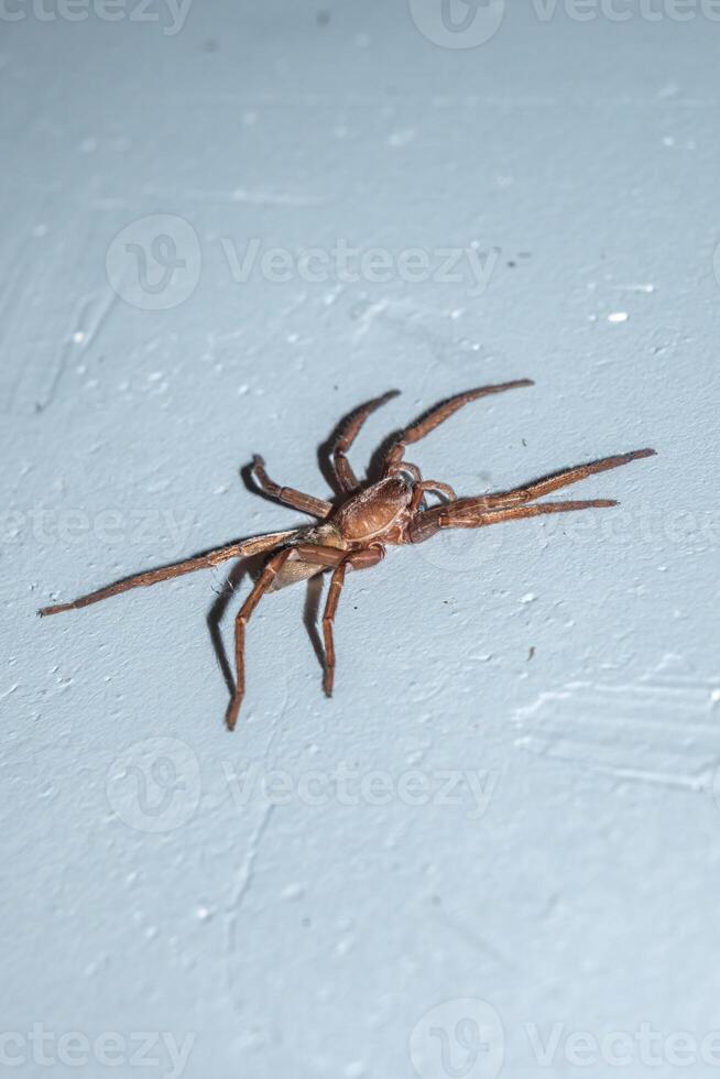
[[[42,617],[76,610],[131,588],[154,585],[161,580],[194,573],[196,569],[219,566],[231,558],[249,558],[272,552],[236,619],[237,674],[234,693],[226,716],[227,726],[229,730],[234,729],[244,696],[246,626],[260,599],[265,592],[276,591],[296,581],[308,580],[325,571],[331,571],[331,578],[323,615],[325,645],[323,688],[330,697],[335,677],[332,623],[348,570],[370,569],[384,557],[388,545],[424,543],[444,528],[480,528],[489,524],[517,521],[521,517],[538,516],[543,513],[566,513],[569,510],[618,505],[611,499],[539,503],[536,500],[596,472],[619,468],[642,457],[654,456],[654,449],[637,449],[618,457],[606,457],[589,465],[564,469],[526,487],[493,494],[476,494],[470,498],[458,498],[447,483],[424,480],[417,466],[404,459],[407,446],[424,438],[462,405],[490,394],[531,385],[534,385],[531,379],[521,379],[501,385],[468,390],[441,402],[384,444],[384,448],[380,451],[380,480],[363,484],[352,471],[347,455],[368,416],[395,397],[400,391],[391,390],[383,393],[382,396],[374,397],[351,412],[336,429],[329,457],[332,477],[342,494],[338,505],[325,499],[314,498],[312,494],[303,494],[291,487],[281,487],[269,478],[262,457],[253,458],[251,475],[260,489],[277,502],[316,517],[317,524],[294,528],[291,532],[273,532],[217,547],[186,562],[123,578],[72,603],[45,607],[39,611],[39,614]],[[427,494],[436,495],[439,501],[428,506]]]

